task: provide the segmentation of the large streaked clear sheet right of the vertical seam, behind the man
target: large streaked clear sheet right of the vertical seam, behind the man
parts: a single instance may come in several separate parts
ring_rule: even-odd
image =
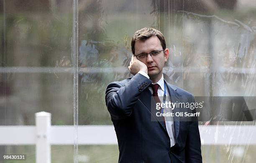
[[[105,89],[132,76],[131,38],[143,27],[165,36],[169,83],[195,96],[256,96],[255,9],[255,0],[79,1],[79,124],[112,125]],[[255,125],[210,118],[200,125]],[[203,162],[252,163],[251,146],[203,145]]]

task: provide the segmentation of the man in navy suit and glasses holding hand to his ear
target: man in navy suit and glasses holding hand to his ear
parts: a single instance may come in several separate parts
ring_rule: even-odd
[[[169,57],[163,34],[154,28],[138,30],[131,48],[128,69],[134,76],[110,83],[105,96],[118,138],[118,162],[202,163],[197,117],[178,115],[160,120],[151,109],[152,99],[156,104],[164,95],[166,102],[195,102],[191,93],[167,83],[163,77]],[[185,108],[172,112],[179,109],[195,113]]]

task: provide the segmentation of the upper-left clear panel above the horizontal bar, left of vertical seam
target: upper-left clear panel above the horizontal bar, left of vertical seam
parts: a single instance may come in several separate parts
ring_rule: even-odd
[[[4,0],[5,67],[72,66],[72,2]],[[4,56],[3,56],[4,55]]]

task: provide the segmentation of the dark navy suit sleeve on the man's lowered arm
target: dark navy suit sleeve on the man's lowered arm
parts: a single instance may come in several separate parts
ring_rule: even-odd
[[[195,103],[193,95],[192,103]],[[192,113],[196,113],[196,110],[194,109]],[[186,163],[202,163],[201,140],[197,117],[188,123],[189,132],[186,140]]]

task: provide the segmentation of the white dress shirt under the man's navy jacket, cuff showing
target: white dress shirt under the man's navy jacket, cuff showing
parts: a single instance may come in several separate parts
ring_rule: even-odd
[[[141,75],[143,75],[143,76],[145,76],[145,77],[147,77],[149,79],[148,74],[146,74],[145,72],[139,71],[138,73],[140,73]],[[162,78],[158,82],[153,83],[153,84],[159,84],[160,85],[158,90],[157,90],[157,94],[158,94],[159,99],[161,100],[161,102],[163,102],[163,98],[161,98],[161,97],[164,96],[164,75],[162,75]],[[148,87],[148,89],[153,94],[152,88]],[[171,101],[171,99],[170,99],[168,88],[166,87],[166,102],[169,102],[169,101]],[[168,111],[172,112],[172,109],[164,108],[164,113],[166,113]],[[165,118],[166,129],[167,129],[168,135],[170,137],[170,145],[172,147],[173,145],[175,145],[173,117],[169,116],[169,117],[164,117],[164,118]]]

